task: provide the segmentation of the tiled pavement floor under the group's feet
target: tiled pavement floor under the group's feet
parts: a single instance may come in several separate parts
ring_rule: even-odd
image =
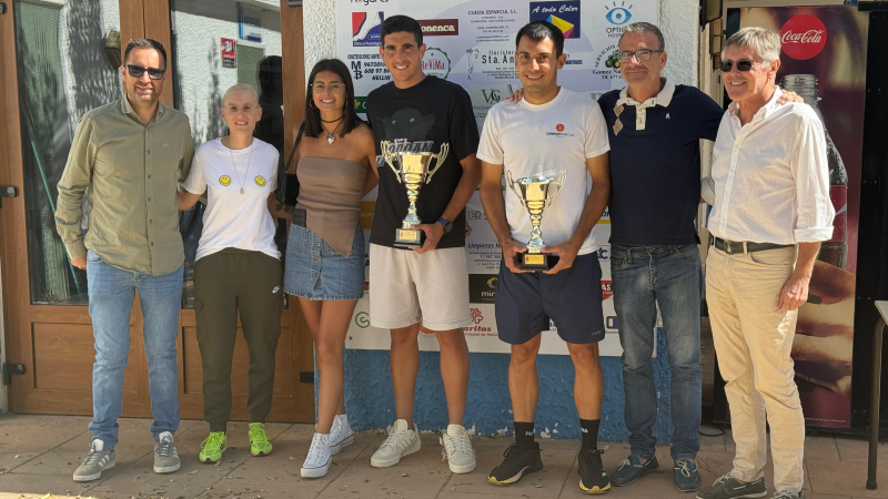
[[[513,487],[487,483],[487,472],[500,462],[507,438],[475,437],[478,468],[468,475],[452,475],[441,459],[437,436],[423,435],[420,452],[398,466],[375,469],[370,456],[382,442],[382,435],[362,434],[354,445],[334,458],[330,473],[316,480],[302,479],[299,469],[312,438],[309,425],[270,424],[274,454],[252,458],[246,425],[229,427],[229,450],[219,466],[198,462],[201,441],[209,428],[202,421],[183,421],[176,434],[182,469],[174,473],[151,471],[152,442],[149,421],[120,420],[118,466],[100,480],[77,483],[71,473],[89,449],[88,418],[61,416],[0,416],[0,499],[51,497],[171,498],[171,499],[478,499],[481,497],[578,498],[576,440],[541,440],[542,472],[529,475]],[[715,432],[713,428],[706,431]],[[730,469],[730,434],[702,437],[698,466],[704,483]],[[603,447],[607,444],[603,444]],[[809,436],[806,440],[805,489],[809,499],[888,499],[888,452],[881,445],[878,490],[867,490],[867,442],[862,439]],[[625,458],[625,444],[610,444],[604,455],[605,469],[612,471]],[[672,480],[672,460],[666,447],[657,449],[658,471],[632,486],[614,488],[614,498],[684,498]],[[769,465],[770,466],[770,465]],[[767,471],[770,480],[770,470]]]

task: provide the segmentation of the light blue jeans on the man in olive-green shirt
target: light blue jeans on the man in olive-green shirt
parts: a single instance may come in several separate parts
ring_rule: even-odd
[[[148,358],[148,393],[154,439],[179,428],[179,365],[175,338],[182,306],[182,272],[140,274],[112,267],[90,251],[87,254],[90,317],[95,338],[92,366],[93,439],[112,449],[118,442],[118,417],[123,406],[123,368],[130,354],[130,312],[134,292],[144,316],[143,340]]]

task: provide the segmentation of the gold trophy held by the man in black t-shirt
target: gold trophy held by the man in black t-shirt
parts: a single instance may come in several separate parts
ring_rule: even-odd
[[[407,200],[410,200],[407,216],[401,223],[401,228],[397,228],[395,232],[395,246],[407,248],[422,247],[425,242],[425,233],[413,228],[414,225],[422,223],[420,216],[416,215],[416,198],[420,196],[420,187],[431,182],[432,175],[444,164],[444,159],[447,157],[451,145],[446,142],[441,144],[441,152],[438,154],[410,151],[411,147],[407,142],[392,143],[382,141],[380,147],[382,149],[385,163],[387,163],[392,171],[395,172],[395,175],[397,175],[397,182],[406,186]],[[431,167],[432,160],[436,160],[434,169]],[[395,164],[397,166],[395,166]]]

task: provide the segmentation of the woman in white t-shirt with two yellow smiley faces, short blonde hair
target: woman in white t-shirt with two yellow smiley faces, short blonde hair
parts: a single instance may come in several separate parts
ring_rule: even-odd
[[[194,312],[203,361],[203,417],[210,436],[202,462],[219,462],[231,416],[231,364],[240,312],[250,350],[250,454],[268,456],[265,432],[274,386],[274,355],[281,336],[283,271],[274,244],[268,200],[278,181],[278,150],[253,138],[262,109],[252,86],[225,92],[222,118],[230,134],[194,153],[179,210],[191,210],[206,192],[203,232],[194,263]],[[150,228],[150,227],[149,227]]]

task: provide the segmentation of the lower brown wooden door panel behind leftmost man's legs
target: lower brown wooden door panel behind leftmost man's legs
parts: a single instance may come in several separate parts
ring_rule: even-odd
[[[92,326],[82,324],[34,324],[34,388],[92,390],[92,364],[95,358]],[[134,332],[130,332],[130,337]],[[123,370],[123,391],[139,388],[138,356],[141,342],[130,343],[130,359]]]

